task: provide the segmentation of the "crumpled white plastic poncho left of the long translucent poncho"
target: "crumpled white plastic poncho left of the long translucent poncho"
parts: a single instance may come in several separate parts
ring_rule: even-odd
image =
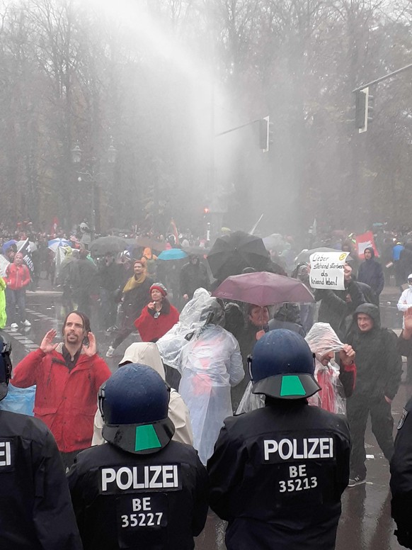
[[[214,301],[214,298],[210,297],[210,293],[205,288],[198,288],[193,298],[183,308],[176,325],[173,325],[171,330],[156,342],[165,365],[180,370],[179,356],[183,347],[189,342],[186,335],[205,324],[200,320],[200,316],[211,301]]]

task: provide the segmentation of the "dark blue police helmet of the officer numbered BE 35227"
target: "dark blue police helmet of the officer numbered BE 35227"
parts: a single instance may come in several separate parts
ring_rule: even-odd
[[[150,366],[122,366],[99,390],[103,438],[134,454],[163,449],[175,432],[169,398],[170,387]]]

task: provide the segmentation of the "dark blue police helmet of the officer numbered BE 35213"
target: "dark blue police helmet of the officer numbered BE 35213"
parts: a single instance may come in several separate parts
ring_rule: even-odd
[[[310,397],[321,389],[314,368],[314,356],[301,335],[292,330],[271,330],[253,348],[252,392],[279,399]]]

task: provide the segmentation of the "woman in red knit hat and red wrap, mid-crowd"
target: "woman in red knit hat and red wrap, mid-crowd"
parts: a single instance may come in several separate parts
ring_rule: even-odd
[[[178,322],[179,312],[166,296],[166,286],[161,283],[151,285],[151,301],[135,320],[135,327],[143,342],[157,342]]]

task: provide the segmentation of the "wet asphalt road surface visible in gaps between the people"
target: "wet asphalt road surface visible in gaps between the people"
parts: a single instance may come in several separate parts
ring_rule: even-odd
[[[30,328],[5,329],[5,336],[11,339],[12,360],[16,365],[25,355],[37,349],[42,337],[50,328],[56,328],[58,334],[62,328],[60,294],[46,291],[47,282],[40,281],[43,290],[28,293],[26,306]],[[396,310],[399,292],[396,288],[385,288],[381,298],[382,326],[392,329],[401,328],[401,318]],[[99,330],[96,315],[92,315],[91,329],[98,342],[98,352],[102,357],[110,344],[110,336]],[[115,370],[122,352],[136,335],[131,335],[118,348],[113,359],[106,359],[110,369]],[[402,384],[394,402],[394,432],[401,417],[402,408],[412,395],[412,386]],[[384,459],[370,426],[366,433],[367,483],[363,486],[348,488],[342,499],[343,512],[338,527],[336,550],[396,550],[402,549],[394,537],[394,522],[390,517],[389,465]],[[224,550],[224,522],[210,513],[205,530],[196,541],[196,550]],[[321,549],[319,549],[321,550]]]

